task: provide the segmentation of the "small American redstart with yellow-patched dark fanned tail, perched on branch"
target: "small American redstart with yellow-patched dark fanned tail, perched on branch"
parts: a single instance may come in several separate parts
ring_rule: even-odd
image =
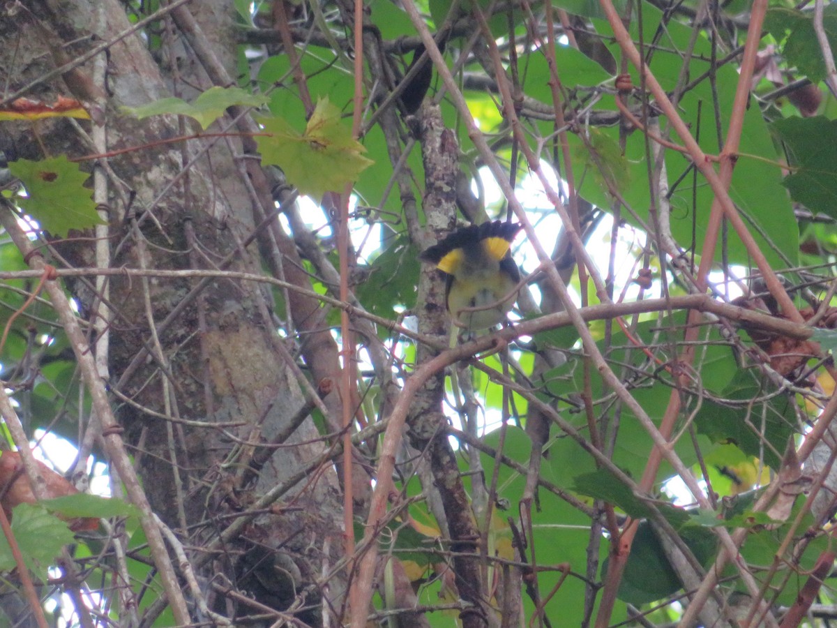
[[[471,224],[419,256],[444,273],[445,304],[460,327],[494,327],[511,310],[517,298],[512,291],[521,279],[511,259],[511,241],[521,228],[520,224],[501,220]],[[463,311],[470,307],[485,309]]]

